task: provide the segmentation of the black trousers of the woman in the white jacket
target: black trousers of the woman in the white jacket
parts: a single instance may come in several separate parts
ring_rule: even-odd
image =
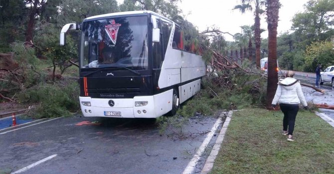
[[[287,131],[289,126],[288,135],[292,135],[295,129],[295,121],[299,106],[296,104],[280,104],[280,107],[284,113],[283,130]]]

